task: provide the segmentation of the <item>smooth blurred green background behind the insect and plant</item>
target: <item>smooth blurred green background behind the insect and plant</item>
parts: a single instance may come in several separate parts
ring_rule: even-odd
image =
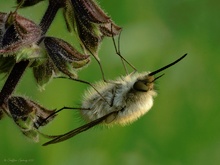
[[[15,1],[0,0],[0,11],[14,10]],[[99,0],[100,5],[123,27],[121,52],[138,71],[153,71],[188,53],[164,71],[158,80],[155,105],[135,123],[110,129],[91,129],[60,144],[42,147],[27,140],[13,123],[1,120],[0,164],[80,165],[201,165],[220,163],[220,2],[214,0]],[[47,2],[20,10],[40,21]],[[72,41],[64,29],[61,12],[48,35]],[[124,75],[112,40],[105,39],[100,58],[108,79]],[[130,71],[132,71],[130,69]],[[95,60],[79,71],[89,82],[101,79]],[[1,87],[3,84],[1,80]],[[22,78],[16,94],[28,96],[49,109],[78,107],[88,86],[70,80],[53,80],[40,92],[31,70]],[[81,122],[76,112],[63,111],[48,134],[64,133]]]

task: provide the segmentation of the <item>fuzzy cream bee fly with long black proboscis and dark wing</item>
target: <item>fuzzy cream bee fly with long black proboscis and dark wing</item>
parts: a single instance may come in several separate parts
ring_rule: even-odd
[[[185,56],[186,54],[154,72],[133,72],[110,83],[100,81],[94,84],[85,93],[81,108],[64,107],[58,110],[79,109],[88,123],[63,135],[51,136],[53,139],[43,145],[62,142],[98,124],[126,125],[137,120],[153,106],[153,98],[157,95],[154,82],[163,74],[158,77],[154,75],[176,64]],[[95,89],[98,89],[99,93]]]

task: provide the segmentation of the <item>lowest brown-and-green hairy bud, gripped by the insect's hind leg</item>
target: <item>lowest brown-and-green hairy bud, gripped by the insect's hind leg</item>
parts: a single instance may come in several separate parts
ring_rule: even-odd
[[[35,142],[39,141],[38,128],[48,124],[56,115],[39,104],[19,96],[12,96],[5,108],[22,133]],[[50,118],[48,118],[50,116]],[[47,119],[47,120],[45,120]]]

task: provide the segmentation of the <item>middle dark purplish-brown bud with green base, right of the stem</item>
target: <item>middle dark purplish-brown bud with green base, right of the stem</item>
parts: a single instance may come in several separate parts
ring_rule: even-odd
[[[81,54],[62,39],[45,37],[43,43],[47,58],[42,64],[33,66],[34,77],[41,87],[53,76],[59,76],[61,73],[76,78],[76,69],[90,62],[89,55]]]

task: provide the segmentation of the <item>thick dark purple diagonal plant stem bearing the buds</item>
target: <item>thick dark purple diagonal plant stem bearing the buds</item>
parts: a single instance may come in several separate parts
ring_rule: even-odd
[[[51,23],[53,22],[57,11],[59,10],[61,6],[59,3],[52,3],[50,1],[49,6],[40,22],[40,27],[42,29],[42,36],[46,34],[47,30],[49,29]],[[38,42],[38,45],[40,44],[41,40]],[[8,100],[8,98],[11,96],[13,91],[15,90],[19,80],[21,79],[24,71],[29,65],[29,61],[21,61],[19,63],[16,63],[9,74],[1,92],[0,92],[0,107],[2,107],[3,104],[5,104]]]

